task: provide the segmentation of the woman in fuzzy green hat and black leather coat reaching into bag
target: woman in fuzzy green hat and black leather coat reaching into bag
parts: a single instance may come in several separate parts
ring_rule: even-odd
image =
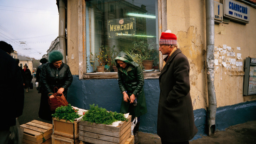
[[[73,81],[73,76],[69,66],[62,62],[63,55],[60,51],[52,51],[49,53],[49,63],[43,65],[40,74],[41,81],[41,102],[39,107],[39,117],[44,120],[52,120],[48,98],[54,97],[52,93],[64,94],[68,97],[68,87]],[[54,89],[55,87],[58,88]]]

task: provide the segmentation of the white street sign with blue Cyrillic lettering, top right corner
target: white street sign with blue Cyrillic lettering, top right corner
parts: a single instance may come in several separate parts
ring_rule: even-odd
[[[233,0],[224,0],[224,16],[243,23],[250,21],[250,7]]]

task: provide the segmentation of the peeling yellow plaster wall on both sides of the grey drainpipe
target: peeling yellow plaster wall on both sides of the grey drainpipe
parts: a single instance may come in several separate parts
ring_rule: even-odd
[[[215,24],[215,53],[218,47],[226,45],[231,47],[231,52],[242,55],[241,59],[224,55],[223,61],[227,64],[231,58],[244,66],[246,57],[256,57],[255,14],[256,9],[250,7],[250,22],[246,25],[232,20],[229,24]],[[206,109],[208,106],[205,21],[205,0],[167,0],[167,28],[177,35],[178,46],[190,62],[190,92],[194,110]],[[237,50],[237,47],[241,50]],[[219,60],[222,56],[219,54],[215,58]],[[255,100],[255,95],[243,96],[243,66],[228,65],[215,66],[217,107]]]

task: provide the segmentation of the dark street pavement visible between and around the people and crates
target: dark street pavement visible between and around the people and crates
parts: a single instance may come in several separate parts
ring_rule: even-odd
[[[25,92],[23,115],[18,118],[20,125],[34,119],[52,123],[38,116],[41,94],[36,90],[35,81],[33,78],[33,89]],[[139,132],[138,144],[161,144],[161,139],[156,134]],[[190,141],[190,144],[256,144],[256,121],[230,126],[225,131],[216,131],[211,137],[201,136]]]

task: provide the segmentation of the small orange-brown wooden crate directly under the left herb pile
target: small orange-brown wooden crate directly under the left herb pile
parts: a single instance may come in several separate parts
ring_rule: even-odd
[[[57,118],[52,118],[53,124],[53,134],[59,135],[71,139],[77,139],[79,137],[79,121],[74,123],[69,120],[64,119],[58,120]]]

